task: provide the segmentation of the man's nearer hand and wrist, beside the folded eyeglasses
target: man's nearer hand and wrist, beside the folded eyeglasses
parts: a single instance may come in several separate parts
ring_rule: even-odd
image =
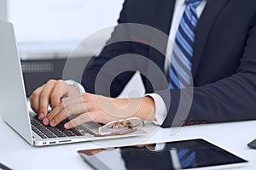
[[[44,125],[55,127],[69,118],[64,127],[69,129],[84,122],[107,123],[136,116],[154,121],[154,100],[151,97],[137,99],[113,99],[96,94],[79,94],[63,98],[44,118]]]

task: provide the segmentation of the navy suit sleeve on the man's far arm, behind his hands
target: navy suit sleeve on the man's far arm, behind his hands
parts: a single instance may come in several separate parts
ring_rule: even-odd
[[[139,4],[144,5],[144,3]],[[137,11],[137,8],[140,8],[137,5],[137,1],[125,1],[119,15],[119,25],[115,26],[102,53],[90,59],[86,65],[81,81],[86,92],[117,97],[134,73],[145,67],[146,63],[138,61],[137,56],[146,58],[148,45],[134,41],[136,34],[142,31],[137,31],[139,25],[132,26],[131,24],[138,23],[137,13],[142,13],[142,11]],[[149,38],[148,32],[143,31],[146,35],[144,37]],[[143,39],[143,41],[147,40]]]

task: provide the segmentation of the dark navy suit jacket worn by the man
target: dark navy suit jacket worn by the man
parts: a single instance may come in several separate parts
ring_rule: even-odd
[[[174,4],[174,0],[126,0],[119,16],[119,24],[138,23],[152,26],[168,35],[172,25]],[[111,81],[110,88],[102,87],[102,91],[97,93],[95,87],[96,75],[102,65],[121,54],[142,55],[164,71],[165,56],[150,44],[157,42],[164,50],[166,39],[158,39],[152,36],[150,31],[145,31],[143,37],[141,37],[142,32],[134,34],[136,33],[133,31],[131,33],[129,29],[119,32],[118,27],[113,31],[109,42],[124,35],[137,42],[123,37],[120,42],[109,43],[102,50],[100,57],[92,59],[82,79],[87,92],[112,97],[119,94],[131,78],[132,71],[125,71],[115,77]],[[117,65],[122,67],[125,63]],[[134,65],[137,67],[136,63]],[[112,74],[110,72],[109,74]],[[106,81],[111,79],[108,77],[109,74],[105,75]],[[166,102],[168,115],[163,127],[178,125],[183,121],[230,122],[255,119],[256,1],[207,0],[207,6],[195,30],[195,49],[192,61],[195,86],[193,96],[189,95],[191,88],[184,89],[182,92],[188,102],[186,99],[185,102],[179,102],[181,99],[179,89],[163,88],[166,85],[162,88],[154,88],[147,75],[143,76],[147,93],[160,94]],[[154,77],[157,76],[154,75]],[[177,108],[190,105],[189,99],[192,99],[192,103],[188,114],[174,121]],[[178,112],[182,114],[183,110]]]

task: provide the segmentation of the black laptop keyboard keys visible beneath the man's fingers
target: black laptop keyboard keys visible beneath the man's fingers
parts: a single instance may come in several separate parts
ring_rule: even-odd
[[[37,133],[42,139],[47,138],[63,138],[63,137],[72,137],[72,136],[88,136],[88,134],[95,136],[89,129],[86,127],[76,127],[67,130],[64,128],[64,124],[67,121],[61,122],[56,127],[44,126],[41,121],[38,120],[38,116],[30,116],[32,131]],[[79,129],[79,130],[77,130]]]

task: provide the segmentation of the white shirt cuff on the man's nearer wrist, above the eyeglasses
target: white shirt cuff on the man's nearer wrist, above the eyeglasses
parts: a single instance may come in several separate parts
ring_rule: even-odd
[[[145,96],[150,96],[154,99],[155,105],[155,119],[154,122],[157,125],[162,125],[167,116],[167,108],[164,99],[159,94],[145,94]]]

